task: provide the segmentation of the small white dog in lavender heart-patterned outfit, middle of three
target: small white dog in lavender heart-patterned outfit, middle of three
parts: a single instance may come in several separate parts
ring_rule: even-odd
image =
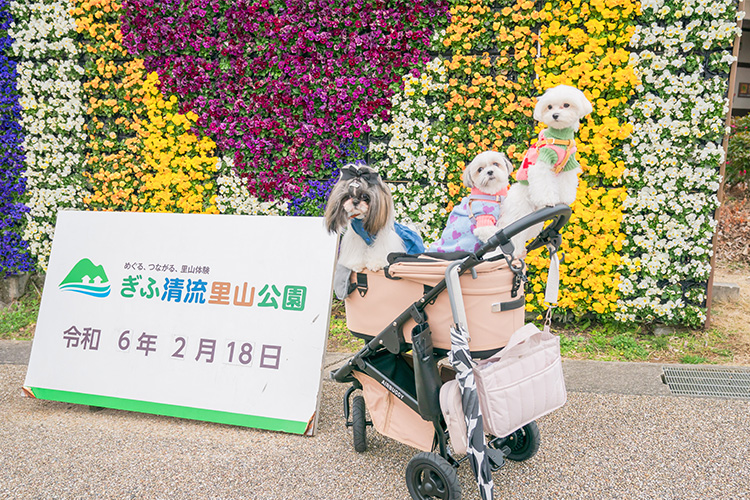
[[[497,151],[479,153],[464,170],[471,194],[448,216],[448,224],[429,252],[475,252],[495,234],[500,204],[508,193],[513,165]]]

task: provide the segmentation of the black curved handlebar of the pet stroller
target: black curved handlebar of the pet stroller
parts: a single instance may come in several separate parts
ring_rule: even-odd
[[[570,215],[570,207],[562,203],[553,207],[541,208],[497,231],[479,250],[477,250],[476,255],[481,258],[483,255],[496,250],[498,247],[500,247],[506,255],[512,255],[514,248],[510,239],[513,236],[537,224],[552,221],[552,223],[542,229],[541,233],[539,233],[539,235],[526,246],[526,250],[531,251],[545,246],[548,243],[553,242],[553,238],[558,235],[560,229],[562,229],[563,226],[567,224],[568,220],[570,220]]]

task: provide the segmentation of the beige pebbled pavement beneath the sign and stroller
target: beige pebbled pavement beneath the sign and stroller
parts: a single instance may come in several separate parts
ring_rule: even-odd
[[[416,450],[370,431],[356,453],[342,384],[324,380],[302,437],[28,399],[28,348],[0,341],[0,499],[409,498]],[[672,396],[659,365],[563,365],[568,403],[539,420],[534,458],[494,474],[495,498],[750,498],[750,401]],[[478,498],[468,464],[459,479]]]

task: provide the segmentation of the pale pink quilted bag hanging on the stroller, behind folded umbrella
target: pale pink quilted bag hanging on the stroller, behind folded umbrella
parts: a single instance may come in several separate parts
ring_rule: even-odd
[[[474,367],[485,432],[505,437],[563,406],[567,400],[560,339],[528,324],[508,345]],[[440,407],[457,453],[466,451],[461,392],[453,380],[440,390]]]

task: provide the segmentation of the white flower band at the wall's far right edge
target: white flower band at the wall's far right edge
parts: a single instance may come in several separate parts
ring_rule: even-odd
[[[640,78],[624,145],[621,321],[698,326],[705,321],[713,218],[725,154],[727,78],[734,62],[736,5],[644,1],[644,15],[668,25],[638,26],[630,63]],[[673,10],[679,9],[679,10]],[[674,22],[683,19],[683,22]],[[721,49],[710,56],[705,50]]]

